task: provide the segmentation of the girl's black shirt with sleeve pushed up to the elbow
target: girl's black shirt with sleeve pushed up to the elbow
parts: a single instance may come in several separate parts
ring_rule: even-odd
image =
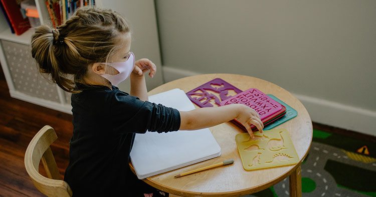
[[[129,153],[135,133],[176,131],[180,114],[104,86],[72,94],[73,135],[64,180],[73,196],[127,196],[134,189]]]

